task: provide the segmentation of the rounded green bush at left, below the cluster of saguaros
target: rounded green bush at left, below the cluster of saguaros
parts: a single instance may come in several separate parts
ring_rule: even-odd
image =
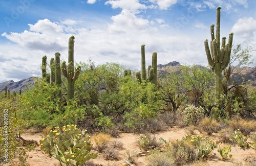
[[[54,122],[52,120],[64,111],[65,105],[60,90],[56,84],[50,85],[37,79],[33,88],[19,97],[19,106],[24,110],[20,118],[29,121],[32,126],[55,125],[51,124]]]

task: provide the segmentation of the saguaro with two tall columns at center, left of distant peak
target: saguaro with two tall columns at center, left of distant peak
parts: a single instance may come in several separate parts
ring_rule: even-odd
[[[141,45],[141,75],[136,72],[136,78],[141,80],[147,80],[151,83],[157,84],[157,53],[152,54],[152,65],[147,67],[147,78],[146,78],[146,64],[145,64],[145,44]]]

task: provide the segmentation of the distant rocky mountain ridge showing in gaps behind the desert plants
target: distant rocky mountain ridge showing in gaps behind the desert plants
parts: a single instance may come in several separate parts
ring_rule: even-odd
[[[173,61],[167,64],[159,64],[157,65],[158,76],[161,77],[165,72],[177,72],[182,66],[179,62]],[[198,67],[202,67],[201,65],[197,65]],[[19,89],[25,91],[28,87],[32,87],[38,77],[30,77],[28,79],[23,79],[17,82],[13,80],[9,80],[3,83],[0,83],[0,91],[5,91],[5,86],[7,85],[7,89],[10,88],[10,92],[14,90],[16,92]],[[254,67],[242,67],[241,74],[234,74],[231,78],[232,80],[237,80],[239,83],[242,83],[243,80],[245,82],[249,81],[248,84],[256,86],[256,66]]]

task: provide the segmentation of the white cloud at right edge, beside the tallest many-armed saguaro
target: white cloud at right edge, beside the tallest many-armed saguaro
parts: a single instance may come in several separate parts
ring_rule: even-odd
[[[256,20],[252,17],[239,18],[231,31],[242,38],[254,38],[256,32]]]

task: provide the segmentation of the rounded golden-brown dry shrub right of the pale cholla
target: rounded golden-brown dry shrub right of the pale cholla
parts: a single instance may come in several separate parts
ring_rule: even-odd
[[[199,131],[201,133],[206,132],[208,135],[217,133],[220,130],[220,124],[216,120],[211,120],[209,117],[204,117],[199,122]]]

